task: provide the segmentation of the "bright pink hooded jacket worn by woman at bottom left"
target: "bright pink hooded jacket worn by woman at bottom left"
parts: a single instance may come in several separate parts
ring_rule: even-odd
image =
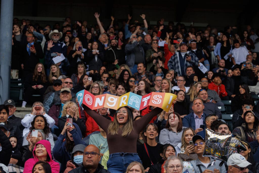
[[[44,145],[44,147],[46,148],[47,154],[48,154],[49,157],[51,158],[50,161],[48,161],[47,163],[49,163],[49,165],[50,165],[50,167],[51,167],[52,173],[59,173],[59,169],[60,169],[59,163],[57,163],[57,162],[55,162],[54,160],[52,160],[51,144],[50,144],[50,142],[47,141],[47,140],[40,140],[39,142],[37,142],[37,143],[35,144],[35,147],[34,147],[33,152],[32,152],[32,153],[33,153],[33,158],[30,158],[30,159],[28,159],[28,160],[25,162],[23,172],[24,172],[24,173],[31,173],[34,164],[39,161],[38,157],[37,157],[36,154],[35,154],[35,149],[36,149],[37,144],[42,144],[42,145]]]

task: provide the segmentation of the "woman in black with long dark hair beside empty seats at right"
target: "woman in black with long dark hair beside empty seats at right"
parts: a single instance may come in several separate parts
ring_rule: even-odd
[[[231,110],[233,113],[242,108],[244,100],[253,100],[247,84],[239,85],[239,93],[231,97]]]

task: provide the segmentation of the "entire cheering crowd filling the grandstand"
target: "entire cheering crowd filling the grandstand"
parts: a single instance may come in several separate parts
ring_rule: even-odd
[[[13,98],[0,105],[0,172],[259,173],[259,38],[250,25],[148,25],[142,14],[122,24],[111,16],[105,27],[93,17],[95,25],[67,17],[53,27],[13,19],[11,79],[22,80],[22,107],[32,108],[19,118]],[[168,112],[91,110],[78,104],[84,89],[177,99]],[[225,163],[203,156],[206,128],[235,135],[246,150]]]

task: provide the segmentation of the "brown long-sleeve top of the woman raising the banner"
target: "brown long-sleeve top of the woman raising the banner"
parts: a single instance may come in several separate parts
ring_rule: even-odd
[[[96,111],[89,109],[87,106],[83,105],[83,108],[88,113],[88,115],[90,115],[97,122],[97,124],[105,131],[107,135],[107,143],[110,154],[120,152],[137,153],[136,143],[139,137],[139,133],[141,132],[141,130],[143,130],[143,128],[147,126],[147,124],[152,120],[154,116],[158,115],[163,110],[157,107],[147,115],[141,117],[138,120],[133,121],[132,132],[127,137],[123,137],[121,136],[121,129],[119,129],[118,134],[116,135],[111,135],[108,133],[108,126],[112,121],[106,119],[103,116],[100,116]]]

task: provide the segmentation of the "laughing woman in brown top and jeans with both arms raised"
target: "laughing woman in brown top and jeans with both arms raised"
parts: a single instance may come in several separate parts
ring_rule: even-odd
[[[175,103],[175,102],[173,102]],[[133,162],[141,162],[136,149],[136,142],[140,131],[147,126],[152,118],[162,112],[157,107],[147,115],[133,121],[133,114],[128,107],[121,107],[116,111],[114,121],[100,116],[96,111],[82,105],[99,126],[107,134],[109,160],[107,170],[113,173],[126,172],[127,166]]]

